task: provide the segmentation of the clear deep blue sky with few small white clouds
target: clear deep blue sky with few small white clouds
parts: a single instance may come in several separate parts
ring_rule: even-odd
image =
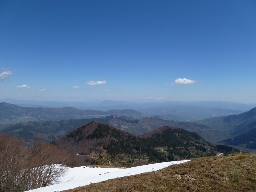
[[[1,0],[0,99],[256,103],[255,23],[255,0]]]

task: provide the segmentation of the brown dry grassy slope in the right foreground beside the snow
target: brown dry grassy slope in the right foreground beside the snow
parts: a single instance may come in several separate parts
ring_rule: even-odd
[[[79,187],[65,192],[256,191],[256,156],[236,153],[201,157],[168,168]]]

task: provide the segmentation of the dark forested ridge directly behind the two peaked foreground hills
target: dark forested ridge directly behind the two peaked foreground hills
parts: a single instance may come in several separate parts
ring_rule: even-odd
[[[146,117],[138,120],[132,117],[115,115],[92,119],[57,120],[45,122],[30,121],[10,125],[9,127],[6,127],[6,125],[1,132],[15,135],[16,137],[27,140],[28,142],[32,142],[36,139],[52,141],[73,130],[74,128],[91,121],[109,124],[137,136],[162,126],[172,126],[182,128],[190,132],[196,132],[211,142],[219,141],[220,138],[222,138],[222,140],[228,138],[223,132],[201,124],[181,121],[165,121],[156,117]]]

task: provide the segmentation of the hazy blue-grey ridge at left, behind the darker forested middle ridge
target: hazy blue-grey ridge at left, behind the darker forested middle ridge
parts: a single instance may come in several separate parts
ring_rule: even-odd
[[[105,112],[96,110],[79,110],[72,107],[19,107],[9,103],[0,103],[0,124],[12,124],[28,121],[83,119],[105,117],[108,115],[123,115],[134,118],[143,118],[146,116],[139,111],[131,109],[110,110]]]

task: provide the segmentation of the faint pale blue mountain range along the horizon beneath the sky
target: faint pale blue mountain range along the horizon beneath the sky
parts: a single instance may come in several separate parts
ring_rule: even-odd
[[[150,107],[166,107],[166,106],[199,106],[220,109],[232,109],[248,111],[256,107],[256,103],[243,104],[228,101],[156,101],[156,100],[136,100],[136,101],[91,101],[91,102],[54,102],[54,101],[30,101],[30,100],[16,100],[16,99],[0,99],[0,102],[15,104],[23,107],[75,107],[86,108],[94,110],[110,110],[110,109],[145,109]]]

